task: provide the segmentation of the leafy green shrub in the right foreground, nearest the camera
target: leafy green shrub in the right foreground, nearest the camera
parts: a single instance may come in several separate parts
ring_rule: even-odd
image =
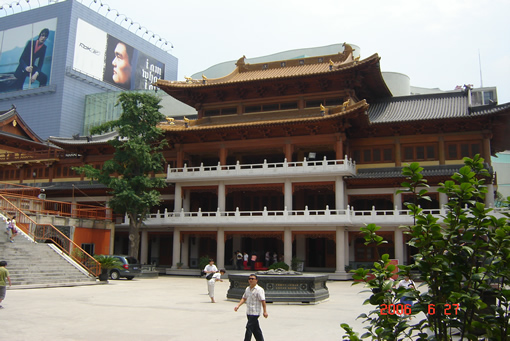
[[[438,191],[448,197],[442,222],[415,204],[427,194],[423,168],[417,163],[404,167],[408,181],[402,184],[402,192],[414,196],[413,202],[406,203],[414,224],[403,228],[418,254],[413,265],[399,265],[399,274],[418,271],[426,290],[393,288],[387,280],[391,276],[388,255],[371,270],[353,271],[354,279],[377,289],[365,301],[376,309],[359,316],[369,324],[361,338],[443,341],[458,334],[460,340],[509,340],[510,215],[497,218],[485,207],[485,181],[490,174],[483,161],[479,155],[464,158],[464,167],[440,184]],[[362,233],[367,241],[373,238],[370,230],[364,228]],[[424,312],[424,319],[411,323],[387,309],[382,314],[384,304],[396,305],[404,294],[415,301],[408,312],[414,316]],[[344,338],[355,335],[348,325],[341,326],[347,333]]]

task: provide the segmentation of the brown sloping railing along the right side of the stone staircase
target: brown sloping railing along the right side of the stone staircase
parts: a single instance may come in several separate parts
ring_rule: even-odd
[[[38,243],[53,243],[76,263],[85,268],[94,277],[101,273],[101,264],[85,250],[69,239],[51,224],[39,224],[26,215],[21,209],[0,194],[0,210],[11,218],[16,218],[16,227]]]

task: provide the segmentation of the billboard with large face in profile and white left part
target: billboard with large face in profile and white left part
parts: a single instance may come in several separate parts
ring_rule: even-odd
[[[78,19],[73,69],[124,90],[152,90],[165,64]]]

